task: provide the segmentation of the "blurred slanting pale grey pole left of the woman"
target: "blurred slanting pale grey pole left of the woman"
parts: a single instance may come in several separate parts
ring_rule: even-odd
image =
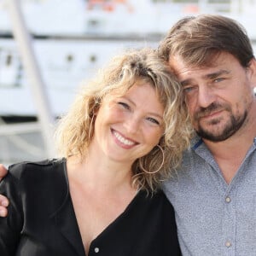
[[[44,139],[46,155],[47,157],[54,157],[55,147],[52,143],[52,138],[55,119],[50,109],[43,78],[39,72],[32,45],[32,37],[27,32],[25,20],[20,9],[20,0],[8,0],[7,3],[14,38],[18,44],[20,57],[26,70],[32,97],[38,112],[38,122]]]

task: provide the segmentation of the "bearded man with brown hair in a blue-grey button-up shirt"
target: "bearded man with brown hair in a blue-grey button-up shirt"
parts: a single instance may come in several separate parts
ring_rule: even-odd
[[[235,20],[179,20],[160,43],[197,136],[164,184],[183,255],[256,255],[256,61]]]

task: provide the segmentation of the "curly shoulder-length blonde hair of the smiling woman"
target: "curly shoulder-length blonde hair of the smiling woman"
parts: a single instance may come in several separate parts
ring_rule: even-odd
[[[133,163],[132,178],[139,189],[155,191],[162,180],[170,177],[172,170],[177,170],[183,150],[189,147],[193,129],[183,105],[181,86],[154,49],[130,49],[113,57],[95,79],[83,85],[70,110],[61,118],[55,139],[61,156],[78,155],[82,160],[94,134],[94,113],[102,99],[112,92],[122,96],[141,82],[152,84],[165,108],[165,132],[158,147]]]

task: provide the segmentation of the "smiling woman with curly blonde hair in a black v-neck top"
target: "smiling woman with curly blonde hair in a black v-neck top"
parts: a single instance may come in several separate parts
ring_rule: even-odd
[[[63,158],[10,166],[0,184],[1,256],[180,255],[159,187],[189,145],[189,118],[154,50],[115,57],[55,134]]]

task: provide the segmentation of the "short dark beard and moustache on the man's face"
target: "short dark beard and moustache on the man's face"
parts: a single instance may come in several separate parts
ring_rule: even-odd
[[[224,128],[221,131],[207,131],[200,125],[200,118],[214,111],[218,111],[218,109],[225,109],[228,111],[230,113],[230,120],[224,125]],[[229,106],[225,106],[225,108],[223,108],[223,106],[219,105],[218,103],[212,103],[209,107],[201,108],[197,113],[195,113],[195,121],[198,122],[198,129],[196,130],[196,133],[200,137],[209,141],[216,143],[222,142],[235,134],[236,131],[238,131],[244,124],[246,119],[247,111],[245,111],[242,115],[235,116]],[[209,125],[218,125],[219,121],[219,119],[212,120]]]

